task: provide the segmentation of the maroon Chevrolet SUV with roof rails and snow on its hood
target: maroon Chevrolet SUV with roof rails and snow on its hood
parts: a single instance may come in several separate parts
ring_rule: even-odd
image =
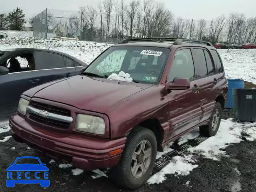
[[[108,78],[121,71],[130,82]],[[80,75],[24,92],[10,132],[84,170],[112,167],[118,184],[137,188],[166,144],[196,127],[216,134],[226,98],[222,61],[210,43],[125,40]]]

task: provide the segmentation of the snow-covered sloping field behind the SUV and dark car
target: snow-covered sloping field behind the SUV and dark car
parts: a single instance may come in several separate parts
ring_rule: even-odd
[[[43,48],[66,52],[90,64],[96,56],[112,44],[64,39],[12,37],[0,40],[0,50],[11,48]],[[226,76],[256,84],[256,49],[218,50]]]

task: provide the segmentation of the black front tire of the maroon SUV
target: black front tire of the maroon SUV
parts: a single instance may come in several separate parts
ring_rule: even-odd
[[[146,141],[146,142],[145,142]],[[136,156],[135,152],[138,153],[140,149],[140,144],[144,143],[147,150],[149,150],[149,146],[151,145],[151,159],[145,158],[143,162],[148,167],[144,174],[142,174],[142,168],[138,168],[138,175],[134,175],[132,173],[132,167],[136,167],[137,165],[142,165],[143,162],[140,155],[138,155],[138,159],[132,160],[133,156]],[[145,149],[145,148],[144,148]],[[144,150],[143,150],[144,151]],[[132,131],[126,141],[124,151],[122,153],[121,159],[118,162],[118,165],[110,170],[110,178],[121,186],[124,186],[129,189],[136,189],[140,187],[146,180],[148,180],[150,173],[154,168],[154,163],[156,161],[156,153],[157,153],[157,143],[156,136],[154,133],[144,127],[136,127],[134,131]],[[143,154],[142,154],[143,156]],[[141,162],[141,164],[140,164]],[[147,162],[147,163],[146,163]],[[139,171],[140,170],[140,171]],[[142,175],[139,176],[139,173]],[[137,176],[137,178],[135,177]]]

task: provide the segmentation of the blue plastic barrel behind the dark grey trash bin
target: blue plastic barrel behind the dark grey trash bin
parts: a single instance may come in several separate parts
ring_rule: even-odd
[[[244,80],[242,79],[228,79],[228,100],[226,108],[233,108],[233,88],[244,88]]]

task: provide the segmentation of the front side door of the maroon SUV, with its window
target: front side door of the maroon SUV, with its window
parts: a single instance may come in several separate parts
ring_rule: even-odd
[[[190,88],[188,90],[171,91],[167,96],[168,100],[170,100],[170,109],[172,109],[169,112],[170,139],[196,126],[202,113],[198,100],[199,80],[195,77],[194,62],[190,48],[176,50],[168,80],[172,82],[176,77],[188,78],[190,80]],[[174,105],[175,112],[173,111]]]

